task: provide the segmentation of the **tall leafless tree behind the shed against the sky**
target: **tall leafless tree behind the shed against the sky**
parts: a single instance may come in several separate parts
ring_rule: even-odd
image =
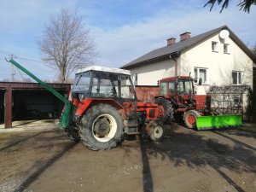
[[[43,37],[38,39],[43,61],[59,70],[59,81],[67,82],[75,69],[89,65],[95,57],[95,44],[77,10],[61,9],[52,15]]]

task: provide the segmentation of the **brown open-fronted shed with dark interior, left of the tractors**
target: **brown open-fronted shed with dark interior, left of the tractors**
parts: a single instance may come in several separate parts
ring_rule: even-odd
[[[49,84],[65,95],[71,84]],[[13,120],[54,119],[61,115],[64,103],[41,84],[0,82],[0,122],[11,128]]]

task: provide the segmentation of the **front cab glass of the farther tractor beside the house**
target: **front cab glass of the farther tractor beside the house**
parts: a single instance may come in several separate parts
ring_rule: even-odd
[[[194,94],[193,82],[191,79],[177,79],[177,95]]]

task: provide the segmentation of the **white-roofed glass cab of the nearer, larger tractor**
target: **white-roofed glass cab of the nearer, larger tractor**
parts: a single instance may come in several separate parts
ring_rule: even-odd
[[[73,98],[113,99],[123,105],[135,101],[136,94],[130,71],[110,67],[90,66],[76,73]]]

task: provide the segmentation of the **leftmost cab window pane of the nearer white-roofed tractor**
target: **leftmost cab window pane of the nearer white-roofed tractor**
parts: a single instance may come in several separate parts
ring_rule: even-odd
[[[74,93],[89,93],[90,89],[90,72],[79,73],[76,75],[74,84],[73,84],[73,92]]]

